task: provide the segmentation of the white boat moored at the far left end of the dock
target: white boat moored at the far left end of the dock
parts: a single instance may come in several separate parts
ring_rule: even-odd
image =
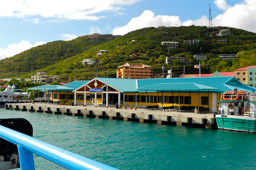
[[[8,85],[4,91],[0,91],[0,107],[4,107],[5,103],[25,103],[30,102],[30,93],[15,92],[15,84]]]

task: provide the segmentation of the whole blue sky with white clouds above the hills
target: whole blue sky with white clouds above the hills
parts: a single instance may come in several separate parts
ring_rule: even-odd
[[[158,26],[227,26],[256,33],[256,0],[0,0],[0,60],[55,40]]]

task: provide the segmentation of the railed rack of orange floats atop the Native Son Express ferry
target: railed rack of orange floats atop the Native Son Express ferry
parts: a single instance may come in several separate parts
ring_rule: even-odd
[[[221,101],[247,101],[250,95],[247,93],[222,93]]]

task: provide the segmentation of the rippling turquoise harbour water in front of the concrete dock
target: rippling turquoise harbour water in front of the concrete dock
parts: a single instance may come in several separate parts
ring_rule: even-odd
[[[0,109],[33,137],[122,170],[256,169],[256,134]],[[37,170],[61,170],[35,156]]]

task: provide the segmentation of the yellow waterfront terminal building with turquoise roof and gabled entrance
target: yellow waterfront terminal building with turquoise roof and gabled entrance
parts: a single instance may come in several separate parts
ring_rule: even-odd
[[[256,88],[243,85],[235,77],[201,77],[173,79],[94,78],[63,86],[44,85],[29,90],[51,94],[51,101],[71,101],[74,105],[115,107],[116,104],[148,106],[190,106],[217,110],[225,91],[237,88],[248,92]]]

